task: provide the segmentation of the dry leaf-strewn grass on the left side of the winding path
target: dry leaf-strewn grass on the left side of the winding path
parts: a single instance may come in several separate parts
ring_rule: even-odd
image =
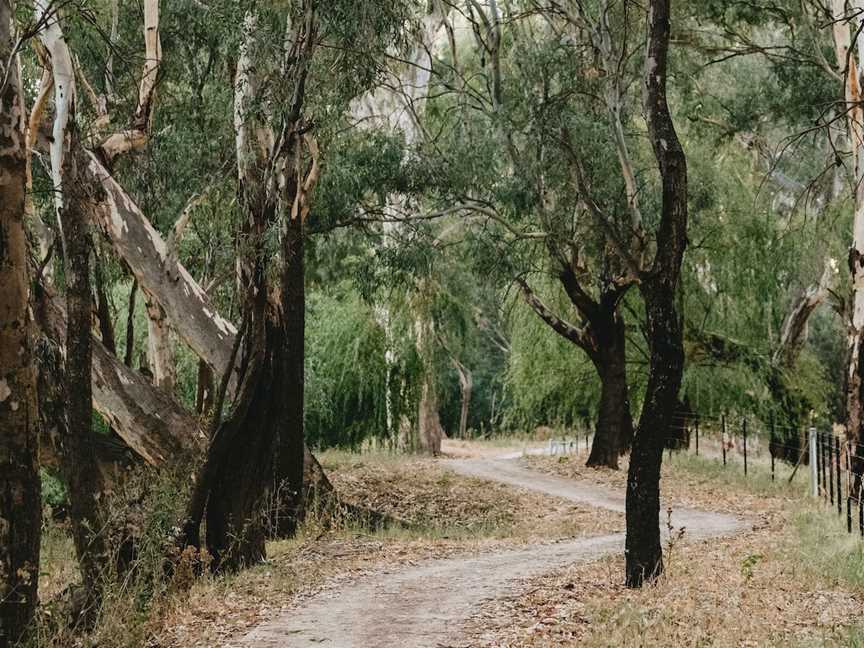
[[[488,447],[493,447],[489,444]],[[495,454],[501,453],[496,444]],[[485,448],[485,447],[484,447]],[[210,648],[372,571],[420,560],[493,551],[524,542],[620,530],[622,516],[451,472],[446,461],[329,452],[322,462],[345,499],[410,523],[409,529],[325,528],[309,520],[297,538],[268,545],[268,561],[233,576],[199,578],[150,603],[112,601],[92,638],[100,648]],[[43,563],[48,595],[77,577],[62,530],[49,532]],[[53,643],[51,643],[53,641]],[[45,646],[67,646],[68,637]]]

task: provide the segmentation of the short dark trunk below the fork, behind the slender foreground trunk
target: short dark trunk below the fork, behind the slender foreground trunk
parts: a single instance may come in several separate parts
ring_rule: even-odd
[[[627,386],[624,320],[612,313],[602,335],[595,366],[600,376],[600,405],[589,467],[618,468],[618,457],[633,441],[633,417]],[[598,327],[599,328],[599,327]]]

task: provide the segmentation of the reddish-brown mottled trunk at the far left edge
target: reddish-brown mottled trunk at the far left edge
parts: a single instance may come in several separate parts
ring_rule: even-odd
[[[12,3],[0,0],[0,77],[6,81],[0,85],[0,648],[21,639],[33,619],[42,512],[23,222],[23,106],[11,24]]]

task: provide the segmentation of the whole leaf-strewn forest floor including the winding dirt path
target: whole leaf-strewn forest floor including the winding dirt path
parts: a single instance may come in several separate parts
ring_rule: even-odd
[[[789,484],[788,469],[773,482],[759,462],[744,478],[712,459],[664,460],[667,574],[633,591],[621,585],[626,462],[593,470],[584,452],[524,449],[324,453],[343,497],[409,527],[309,520],[268,545],[266,564],[198,579],[98,645],[864,645],[862,543],[806,497],[806,475]],[[49,589],[74,565],[61,553],[50,550]]]

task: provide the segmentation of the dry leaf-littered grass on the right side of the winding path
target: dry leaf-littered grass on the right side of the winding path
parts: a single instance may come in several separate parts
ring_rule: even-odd
[[[619,488],[626,476],[587,470],[578,458],[526,461]],[[466,645],[861,645],[854,627],[864,612],[861,543],[836,516],[812,512],[797,478],[772,483],[757,469],[745,481],[686,456],[664,463],[663,493],[673,507],[755,512],[753,530],[676,544],[666,574],[643,590],[623,586],[623,556],[533,579],[516,596],[486,604],[466,628]],[[850,582],[856,573],[862,578]]]

